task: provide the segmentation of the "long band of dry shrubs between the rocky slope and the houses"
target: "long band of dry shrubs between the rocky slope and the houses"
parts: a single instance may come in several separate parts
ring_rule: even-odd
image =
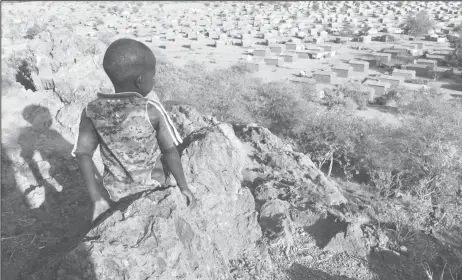
[[[312,85],[263,83],[249,72],[244,65],[210,71],[199,63],[178,68],[159,61],[156,89],[162,101],[190,104],[222,121],[266,126],[318,167],[335,164],[347,179],[361,172],[383,196],[408,194],[422,206],[413,208],[417,227],[462,222],[462,102],[444,101],[436,88],[392,89],[386,98],[405,116],[395,127],[354,115],[368,97],[357,85],[327,91],[319,104]]]

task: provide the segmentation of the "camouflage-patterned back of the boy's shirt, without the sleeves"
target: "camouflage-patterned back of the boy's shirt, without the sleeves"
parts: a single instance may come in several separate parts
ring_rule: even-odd
[[[160,149],[147,105],[138,93],[119,93],[98,94],[86,107],[100,137],[103,185],[114,201],[160,186],[151,176]]]

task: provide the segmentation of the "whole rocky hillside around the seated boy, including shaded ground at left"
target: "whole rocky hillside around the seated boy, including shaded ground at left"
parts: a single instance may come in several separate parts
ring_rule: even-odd
[[[53,26],[26,36],[20,14],[3,15],[18,24],[2,35],[2,279],[425,279],[422,263],[437,277],[455,259],[418,233],[412,251],[396,246],[373,194],[344,191],[268,129],[184,105],[170,114],[197,209],[162,189],[91,224],[70,151],[84,104],[111,90],[107,40]],[[439,253],[450,258],[430,262]]]

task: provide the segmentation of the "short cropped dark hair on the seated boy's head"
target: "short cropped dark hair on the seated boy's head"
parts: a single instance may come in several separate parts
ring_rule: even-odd
[[[132,39],[114,41],[106,50],[103,68],[114,84],[136,79],[156,67],[156,57],[145,44]]]

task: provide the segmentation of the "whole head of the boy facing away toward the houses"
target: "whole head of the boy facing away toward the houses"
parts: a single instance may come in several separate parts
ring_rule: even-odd
[[[106,50],[103,68],[116,90],[134,91],[146,96],[154,86],[156,57],[141,42],[119,39]]]

